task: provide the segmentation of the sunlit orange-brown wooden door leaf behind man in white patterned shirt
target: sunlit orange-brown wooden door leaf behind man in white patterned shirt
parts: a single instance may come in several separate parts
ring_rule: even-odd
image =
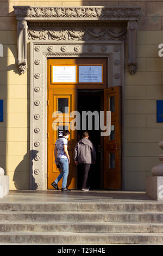
[[[70,155],[68,188],[77,187],[77,168],[73,160],[73,150],[77,143],[77,131],[70,130],[70,113],[77,109],[76,89],[49,89],[48,90],[48,189],[53,189],[52,182],[60,174],[60,169],[54,163],[54,147],[56,140],[62,136],[63,130],[70,131],[68,138],[68,154]],[[57,127],[57,128],[56,128]],[[62,179],[58,182],[61,188]]]

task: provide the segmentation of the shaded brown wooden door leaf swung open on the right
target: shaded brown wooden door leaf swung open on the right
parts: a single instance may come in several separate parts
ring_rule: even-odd
[[[104,188],[122,189],[121,86],[104,89],[104,111],[111,111],[111,133],[104,137]]]

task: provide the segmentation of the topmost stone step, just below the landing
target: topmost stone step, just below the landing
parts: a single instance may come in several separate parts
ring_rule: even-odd
[[[142,211],[163,212],[163,203],[159,202],[118,202],[118,203],[4,203],[0,204],[0,211]]]

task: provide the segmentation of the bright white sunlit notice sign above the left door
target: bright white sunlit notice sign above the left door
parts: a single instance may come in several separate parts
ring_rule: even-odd
[[[76,66],[53,66],[53,83],[76,83]]]

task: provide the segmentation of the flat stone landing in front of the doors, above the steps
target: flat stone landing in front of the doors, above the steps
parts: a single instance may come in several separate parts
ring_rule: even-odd
[[[148,202],[160,203],[153,200],[142,191],[106,191],[106,190],[71,190],[70,192],[62,192],[57,190],[32,191],[32,190],[10,190],[10,193],[0,199],[0,203],[120,203],[120,202]],[[163,204],[163,202],[162,202]]]

